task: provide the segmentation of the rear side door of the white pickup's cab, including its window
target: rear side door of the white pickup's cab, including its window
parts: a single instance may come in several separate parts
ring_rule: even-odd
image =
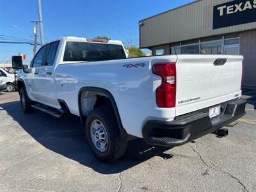
[[[40,81],[40,94],[38,99],[42,103],[52,107],[59,106],[58,100],[56,99],[54,83],[54,63],[59,44],[60,41],[49,44],[49,49],[47,54],[45,54],[45,61],[40,67],[37,77]]]

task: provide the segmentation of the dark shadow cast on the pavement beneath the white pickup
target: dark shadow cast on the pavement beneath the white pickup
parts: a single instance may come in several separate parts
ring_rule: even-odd
[[[58,119],[40,111],[26,114],[22,112],[18,101],[0,104],[0,107],[7,111],[8,115],[12,116],[24,131],[45,148],[73,159],[99,173],[119,173],[154,156],[163,159],[172,158],[172,155],[164,154],[164,151],[170,148],[152,147],[143,140],[136,139],[129,142],[124,157],[114,163],[101,163],[93,156],[84,139],[84,127],[78,116],[67,115]]]

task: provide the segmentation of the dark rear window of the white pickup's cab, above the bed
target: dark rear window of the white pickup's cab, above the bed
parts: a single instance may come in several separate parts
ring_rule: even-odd
[[[122,45],[67,42],[63,61],[105,61],[125,58]]]

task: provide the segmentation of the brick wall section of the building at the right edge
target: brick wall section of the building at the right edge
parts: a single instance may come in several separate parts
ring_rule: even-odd
[[[256,30],[240,33],[240,54],[243,61],[244,86],[256,86]]]

